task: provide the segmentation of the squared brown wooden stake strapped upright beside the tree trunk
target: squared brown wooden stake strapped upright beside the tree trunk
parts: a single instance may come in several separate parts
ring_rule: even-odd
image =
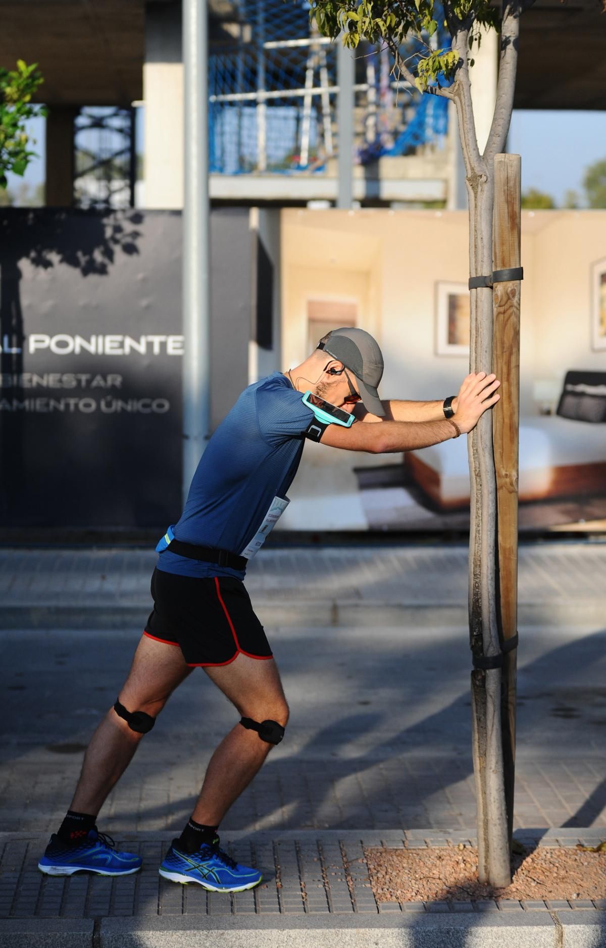
[[[495,155],[493,241],[495,270],[520,266],[521,158]],[[505,644],[518,622],[518,442],[520,431],[520,281],[493,287],[492,371],[501,400],[492,415],[497,479],[497,620]],[[513,830],[516,757],[517,652],[505,656],[501,724],[509,847]]]

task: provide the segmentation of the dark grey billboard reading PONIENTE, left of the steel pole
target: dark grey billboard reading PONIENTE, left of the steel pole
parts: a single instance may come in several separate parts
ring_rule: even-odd
[[[0,218],[0,525],[164,527],[180,510],[181,219]]]

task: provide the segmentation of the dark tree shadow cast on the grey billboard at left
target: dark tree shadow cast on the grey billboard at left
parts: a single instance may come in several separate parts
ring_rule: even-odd
[[[47,270],[70,266],[86,277],[109,276],[117,254],[138,254],[137,210],[28,210],[0,212],[0,373],[2,398],[23,402],[26,333],[20,264]],[[77,225],[75,226],[77,222]],[[27,412],[0,411],[0,519],[27,491]]]

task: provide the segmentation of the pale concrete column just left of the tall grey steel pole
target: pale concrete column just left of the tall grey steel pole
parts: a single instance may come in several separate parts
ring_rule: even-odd
[[[143,206],[183,208],[181,5],[145,7]]]

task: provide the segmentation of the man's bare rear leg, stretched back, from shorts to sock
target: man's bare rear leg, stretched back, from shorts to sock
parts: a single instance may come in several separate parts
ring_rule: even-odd
[[[185,664],[179,647],[143,635],[128,678],[119,693],[119,702],[128,711],[144,711],[156,718],[174,688],[192,670]],[[111,708],[90,740],[69,809],[97,815],[131,762],[142,737]]]

